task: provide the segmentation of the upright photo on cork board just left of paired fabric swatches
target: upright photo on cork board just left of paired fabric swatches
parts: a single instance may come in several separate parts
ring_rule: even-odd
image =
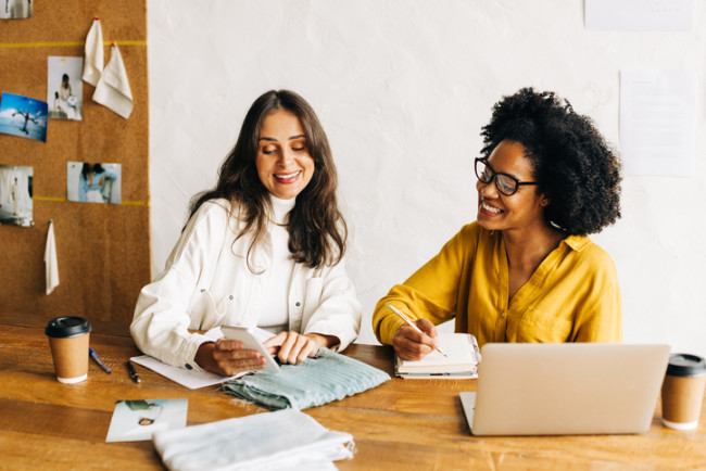
[[[49,56],[47,59],[47,104],[52,119],[81,118],[84,82],[83,58]]]

